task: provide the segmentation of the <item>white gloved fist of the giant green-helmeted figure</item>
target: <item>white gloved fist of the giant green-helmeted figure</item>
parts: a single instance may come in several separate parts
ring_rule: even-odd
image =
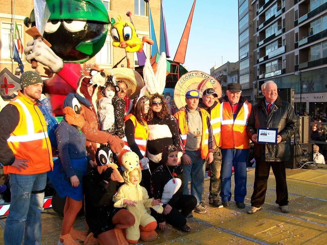
[[[58,57],[41,39],[27,42],[24,53],[28,63],[32,63],[32,60],[34,59],[42,65],[49,67],[50,72],[52,73],[60,72],[63,67],[63,60]]]

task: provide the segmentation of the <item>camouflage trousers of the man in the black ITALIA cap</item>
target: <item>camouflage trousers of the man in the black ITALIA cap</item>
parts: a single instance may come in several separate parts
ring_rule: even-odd
[[[210,167],[210,186],[209,200],[218,200],[221,191],[220,169],[221,169],[221,150],[216,147],[214,151],[214,160],[209,164]]]

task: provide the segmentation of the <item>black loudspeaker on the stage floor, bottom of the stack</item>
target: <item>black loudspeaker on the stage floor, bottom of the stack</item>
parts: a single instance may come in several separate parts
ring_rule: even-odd
[[[311,162],[313,155],[313,144],[291,145],[291,155],[286,162],[287,169],[299,168],[300,162]]]

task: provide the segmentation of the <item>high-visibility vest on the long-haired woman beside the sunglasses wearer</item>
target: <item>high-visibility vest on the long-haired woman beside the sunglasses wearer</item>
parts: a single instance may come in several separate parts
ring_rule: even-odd
[[[133,114],[129,114],[125,117],[124,122],[127,120],[131,120],[132,123],[134,124],[134,139],[135,143],[137,144],[138,148],[140,149],[141,154],[145,157],[146,154],[146,142],[147,142],[147,137],[149,135],[149,128],[147,126],[146,121],[143,120],[143,123],[145,125],[142,125],[136,120],[136,117]],[[126,136],[124,137],[124,148],[121,151],[119,157],[118,157],[118,162],[121,164],[121,157],[124,153],[126,152],[131,152],[132,150],[129,148],[129,144],[127,142]],[[142,167],[141,167],[142,168]]]

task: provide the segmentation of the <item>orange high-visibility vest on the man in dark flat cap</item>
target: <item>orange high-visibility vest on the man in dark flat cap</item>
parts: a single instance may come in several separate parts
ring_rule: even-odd
[[[220,105],[222,149],[249,149],[246,125],[250,112],[251,104],[245,102],[234,121],[232,106],[229,102],[222,102]]]

